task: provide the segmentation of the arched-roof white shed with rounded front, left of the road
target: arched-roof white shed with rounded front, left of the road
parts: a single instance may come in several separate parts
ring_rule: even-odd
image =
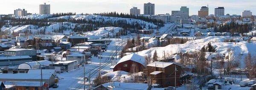
[[[52,62],[49,60],[41,60],[41,61],[34,61],[34,62],[27,62],[27,63],[21,63],[18,65],[19,69],[30,69],[30,68],[39,68],[39,65],[41,65],[41,68],[48,67],[49,64]]]

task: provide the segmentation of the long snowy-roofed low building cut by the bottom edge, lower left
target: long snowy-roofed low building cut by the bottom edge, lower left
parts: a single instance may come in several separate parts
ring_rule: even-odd
[[[45,82],[36,82],[36,81],[5,81],[6,85],[5,90],[42,90],[41,83]],[[43,88],[44,87],[43,85]],[[1,90],[1,89],[0,89]]]

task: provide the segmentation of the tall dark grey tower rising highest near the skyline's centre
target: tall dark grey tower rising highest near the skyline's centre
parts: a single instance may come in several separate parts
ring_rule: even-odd
[[[152,3],[144,3],[144,14],[146,14],[146,15],[154,15],[154,4],[152,4]]]

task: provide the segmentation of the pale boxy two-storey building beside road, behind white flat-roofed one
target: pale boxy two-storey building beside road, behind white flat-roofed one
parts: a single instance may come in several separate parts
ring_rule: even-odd
[[[78,60],[78,63],[81,64],[81,63],[84,63],[85,55],[79,54],[79,53],[67,55],[67,61],[70,61],[70,60]]]

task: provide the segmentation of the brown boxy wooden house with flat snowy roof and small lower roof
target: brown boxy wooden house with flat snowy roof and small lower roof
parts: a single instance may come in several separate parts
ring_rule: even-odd
[[[177,68],[175,71],[175,67]],[[179,63],[166,63],[166,62],[153,62],[147,65],[148,69],[148,83],[160,84],[162,87],[175,86],[175,73],[176,73],[176,86],[180,85],[180,73],[182,65]]]

